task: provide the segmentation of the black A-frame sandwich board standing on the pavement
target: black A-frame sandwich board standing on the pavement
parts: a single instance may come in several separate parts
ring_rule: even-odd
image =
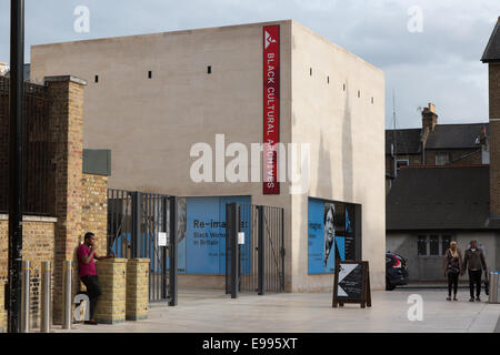
[[[359,303],[371,307],[370,271],[368,262],[338,261],[333,278],[332,307],[344,303]]]

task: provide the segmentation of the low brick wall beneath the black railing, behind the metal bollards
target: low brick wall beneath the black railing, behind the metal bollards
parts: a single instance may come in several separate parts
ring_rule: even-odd
[[[24,216],[22,229],[22,255],[30,262],[30,327],[40,326],[41,267],[43,262],[53,263],[56,219]],[[0,215],[0,284],[8,281],[8,229],[7,215]],[[53,283],[52,283],[53,285]],[[3,297],[3,294],[2,294]]]

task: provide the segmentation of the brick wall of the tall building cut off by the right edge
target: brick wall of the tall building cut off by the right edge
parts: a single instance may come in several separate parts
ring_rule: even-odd
[[[500,215],[500,63],[489,67],[490,94],[490,212]]]

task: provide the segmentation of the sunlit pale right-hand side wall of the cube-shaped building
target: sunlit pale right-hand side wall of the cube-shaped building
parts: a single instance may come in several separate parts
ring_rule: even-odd
[[[292,48],[292,141],[311,144],[309,195],[362,205],[362,258],[383,288],[384,74],[297,22]],[[292,215],[293,290],[331,290],[330,275],[308,275],[308,195],[292,196]]]

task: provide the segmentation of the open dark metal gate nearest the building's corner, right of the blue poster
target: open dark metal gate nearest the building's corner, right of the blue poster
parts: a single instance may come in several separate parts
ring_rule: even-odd
[[[231,297],[284,291],[283,216],[281,207],[227,204],[226,293]]]

